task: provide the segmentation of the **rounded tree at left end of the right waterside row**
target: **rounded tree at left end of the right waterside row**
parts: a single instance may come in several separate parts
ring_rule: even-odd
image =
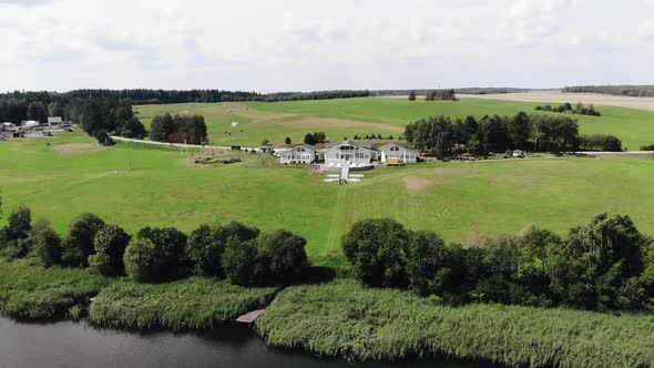
[[[356,277],[369,286],[407,286],[408,244],[409,233],[391,218],[357,222],[343,238]]]

